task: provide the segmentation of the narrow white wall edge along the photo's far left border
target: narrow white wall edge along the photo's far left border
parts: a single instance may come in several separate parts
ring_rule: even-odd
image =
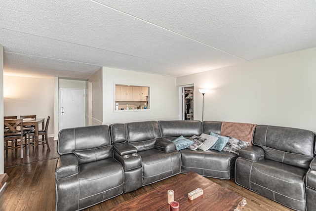
[[[0,44],[0,121],[3,122],[3,46]],[[0,133],[3,134],[3,124],[0,124]],[[0,136],[0,174],[4,173],[4,146],[3,135]]]

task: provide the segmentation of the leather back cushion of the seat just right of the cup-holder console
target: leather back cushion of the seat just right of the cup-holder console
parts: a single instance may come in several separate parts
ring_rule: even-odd
[[[161,138],[159,125],[156,121],[127,123],[126,129],[129,143]]]

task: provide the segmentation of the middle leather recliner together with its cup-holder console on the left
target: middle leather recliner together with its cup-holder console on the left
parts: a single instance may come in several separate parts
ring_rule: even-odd
[[[157,121],[113,124],[110,130],[114,156],[124,168],[125,193],[180,173],[180,153],[161,138]]]

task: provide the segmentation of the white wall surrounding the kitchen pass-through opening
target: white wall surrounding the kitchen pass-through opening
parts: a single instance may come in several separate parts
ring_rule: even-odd
[[[150,86],[150,110],[114,111],[115,83]],[[176,78],[103,67],[103,124],[172,119],[179,119]]]

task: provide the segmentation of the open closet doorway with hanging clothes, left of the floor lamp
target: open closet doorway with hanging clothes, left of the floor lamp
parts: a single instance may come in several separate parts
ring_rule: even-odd
[[[194,86],[182,87],[182,120],[194,120]]]

